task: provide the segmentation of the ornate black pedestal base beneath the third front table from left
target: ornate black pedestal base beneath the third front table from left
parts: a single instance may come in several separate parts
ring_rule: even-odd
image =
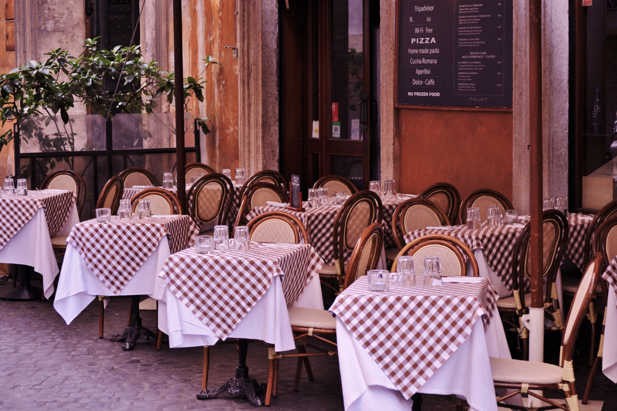
[[[238,357],[239,364],[236,367],[236,376],[225,381],[222,386],[217,389],[204,389],[197,394],[197,399],[210,399],[218,397],[220,394],[227,391],[228,394],[242,394],[251,405],[261,407],[263,400],[257,394],[265,393],[267,384],[258,383],[254,378],[249,378],[249,367],[246,366],[246,352],[249,348],[249,341],[243,338],[238,340]]]

